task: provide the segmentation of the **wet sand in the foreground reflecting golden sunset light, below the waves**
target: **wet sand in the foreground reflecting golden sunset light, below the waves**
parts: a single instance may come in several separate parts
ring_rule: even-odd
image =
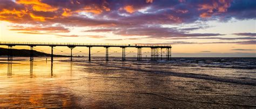
[[[150,72],[173,72],[170,71],[173,70],[170,65],[144,62],[70,62],[63,58],[59,60],[56,58],[51,65],[45,63],[45,59],[33,62],[16,60],[14,65],[8,63],[8,76],[5,66],[7,63],[0,63],[0,108],[255,106],[256,87],[253,85]],[[152,66],[159,69],[146,68]],[[179,66],[176,69],[192,71],[189,67]],[[212,72],[206,68],[201,70]],[[232,69],[219,69],[221,70],[237,73]],[[12,78],[8,78],[11,73]]]

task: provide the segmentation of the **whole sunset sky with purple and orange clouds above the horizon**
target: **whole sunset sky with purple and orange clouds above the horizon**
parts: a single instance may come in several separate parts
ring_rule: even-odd
[[[256,57],[255,5],[255,0],[1,0],[0,41],[168,44],[173,57]],[[104,53],[101,49],[93,48]],[[145,57],[150,49],[143,52]]]

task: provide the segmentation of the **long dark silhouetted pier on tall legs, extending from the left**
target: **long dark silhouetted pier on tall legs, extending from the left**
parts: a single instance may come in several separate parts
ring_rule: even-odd
[[[72,61],[72,50],[75,47],[88,47],[89,48],[89,61],[91,61],[91,47],[105,47],[106,49],[106,61],[109,61],[109,47],[121,47],[122,48],[122,60],[125,60],[125,49],[127,47],[137,48],[137,60],[142,60],[142,48],[151,48],[151,60],[159,60],[159,49],[160,59],[171,60],[171,45],[143,45],[143,44],[83,44],[83,43],[20,43],[20,42],[0,42],[0,45],[8,46],[8,60],[12,60],[12,47],[13,46],[30,46],[30,60],[33,60],[33,47],[35,46],[49,46],[51,47],[51,61],[53,61],[53,47],[66,46],[70,48],[70,60]],[[162,50],[165,49],[166,53],[163,54]]]

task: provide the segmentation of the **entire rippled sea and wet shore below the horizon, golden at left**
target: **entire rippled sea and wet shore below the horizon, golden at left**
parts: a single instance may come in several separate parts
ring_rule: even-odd
[[[0,57],[0,108],[256,108],[256,58]]]

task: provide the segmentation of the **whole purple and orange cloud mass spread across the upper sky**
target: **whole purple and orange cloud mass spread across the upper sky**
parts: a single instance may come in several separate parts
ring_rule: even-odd
[[[254,0],[1,0],[0,21],[40,25],[46,28],[54,24],[62,24],[64,27],[100,27],[100,29],[85,32],[112,32],[116,35],[148,36],[159,39],[208,37],[223,36],[223,34],[190,33],[193,30],[203,29],[200,26],[177,29],[163,28],[161,25],[190,24],[216,19],[226,22],[231,18],[255,19],[255,5]],[[46,28],[36,27],[23,30],[14,28],[14,30],[69,32],[69,29],[61,27],[59,27],[60,30],[46,30]],[[235,33],[235,35],[255,36],[255,33]],[[216,39],[232,40],[231,38]]]

